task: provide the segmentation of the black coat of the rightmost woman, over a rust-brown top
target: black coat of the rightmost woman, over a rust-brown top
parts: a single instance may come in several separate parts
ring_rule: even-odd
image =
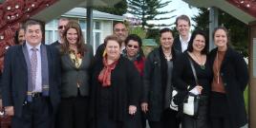
[[[216,54],[217,48],[209,54],[211,67],[213,67]],[[221,65],[220,75],[224,82],[228,111],[231,114],[230,119],[233,126],[242,127],[247,122],[244,91],[248,82],[248,69],[243,56],[228,47]]]

